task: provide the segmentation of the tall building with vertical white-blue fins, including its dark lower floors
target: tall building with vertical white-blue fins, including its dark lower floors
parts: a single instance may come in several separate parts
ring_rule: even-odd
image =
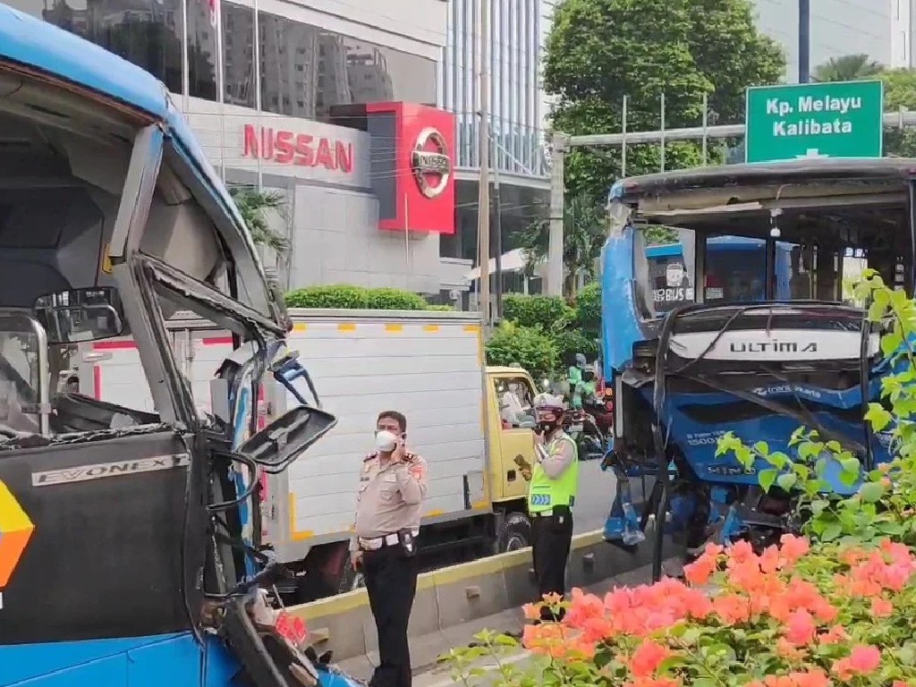
[[[499,174],[504,236],[530,223],[547,202],[540,88],[544,0],[486,0],[485,5],[485,35],[481,0],[451,0],[448,12],[440,104],[458,122],[456,234],[442,237],[442,256],[448,257],[477,254],[482,39],[488,53],[490,163]]]

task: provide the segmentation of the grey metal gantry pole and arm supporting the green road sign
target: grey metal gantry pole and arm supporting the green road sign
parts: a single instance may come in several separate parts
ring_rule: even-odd
[[[705,110],[705,108],[704,108]],[[554,132],[551,142],[551,213],[550,243],[548,245],[547,289],[550,296],[562,296],[563,285],[563,213],[565,212],[563,190],[565,179],[563,165],[566,154],[576,147],[621,147],[621,176],[627,175],[627,145],[636,143],[660,143],[661,159],[664,159],[664,144],[668,141],[703,141],[703,158],[705,159],[706,143],[710,139],[736,138],[745,135],[745,125],[687,126],[680,129],[659,129],[657,131],[627,132],[627,101],[624,100],[624,126],[620,134],[590,134],[586,136],[569,136]],[[704,118],[705,119],[705,118]],[[884,114],[884,125],[890,128],[916,126],[916,112],[900,110]]]

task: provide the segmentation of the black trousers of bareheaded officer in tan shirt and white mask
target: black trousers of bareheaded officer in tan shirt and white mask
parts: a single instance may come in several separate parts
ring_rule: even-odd
[[[407,626],[418,572],[416,556],[406,558],[398,544],[363,553],[365,589],[376,619],[380,659],[369,681],[372,687],[410,687]]]

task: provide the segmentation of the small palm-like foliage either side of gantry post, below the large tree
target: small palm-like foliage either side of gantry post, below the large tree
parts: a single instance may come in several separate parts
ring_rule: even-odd
[[[605,244],[607,213],[603,202],[593,201],[584,193],[566,201],[563,215],[563,290],[573,293],[579,278],[594,278],[594,262]],[[525,249],[528,269],[547,256],[551,223],[546,216],[531,222],[516,236]]]

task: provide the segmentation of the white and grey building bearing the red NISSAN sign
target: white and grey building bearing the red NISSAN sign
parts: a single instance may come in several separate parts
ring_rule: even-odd
[[[270,222],[291,247],[266,258],[290,288],[466,286],[470,261],[440,251],[454,197],[453,116],[435,109],[445,0],[5,2],[151,72],[228,184],[283,197]],[[415,163],[422,146],[449,172]]]

